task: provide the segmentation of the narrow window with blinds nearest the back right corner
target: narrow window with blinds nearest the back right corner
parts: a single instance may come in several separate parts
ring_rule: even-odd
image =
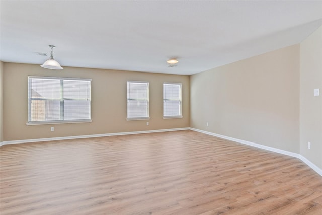
[[[182,118],[181,83],[163,83],[163,118]]]

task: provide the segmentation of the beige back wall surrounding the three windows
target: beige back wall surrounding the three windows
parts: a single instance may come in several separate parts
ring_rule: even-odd
[[[92,123],[27,126],[27,77],[92,79]],[[149,81],[147,120],[126,121],[126,81]],[[182,119],[163,119],[163,82],[182,83]],[[189,127],[189,76],[4,63],[4,141]],[[55,131],[51,132],[50,127]]]

